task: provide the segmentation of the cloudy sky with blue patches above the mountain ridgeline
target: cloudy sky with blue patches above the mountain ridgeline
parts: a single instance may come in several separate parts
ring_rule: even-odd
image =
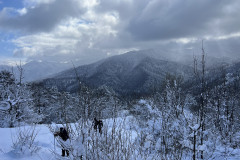
[[[0,63],[159,48],[240,56],[239,0],[0,0]]]

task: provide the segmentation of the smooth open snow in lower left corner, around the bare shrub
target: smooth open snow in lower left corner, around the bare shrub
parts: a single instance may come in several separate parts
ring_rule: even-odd
[[[14,149],[13,143],[17,139],[17,132],[20,130],[28,130],[32,127],[26,126],[21,128],[0,128],[0,159],[1,160],[51,160],[55,159],[52,151],[54,150],[54,136],[49,131],[46,125],[37,125],[36,131],[38,132],[35,139],[35,146],[39,150],[31,155],[28,150],[25,153],[19,153],[18,149]],[[56,148],[56,150],[61,150]]]

